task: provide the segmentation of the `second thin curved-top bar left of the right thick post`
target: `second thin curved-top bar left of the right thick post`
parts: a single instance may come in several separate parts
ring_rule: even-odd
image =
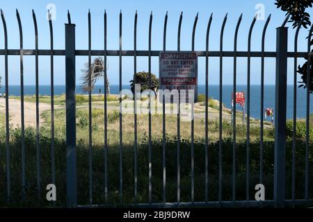
[[[257,21],[257,17],[253,17],[252,23],[249,29],[248,35],[248,67],[247,67],[247,153],[246,153],[246,200],[247,205],[249,205],[250,198],[250,72],[251,72],[251,35],[253,27],[255,26],[255,22]]]

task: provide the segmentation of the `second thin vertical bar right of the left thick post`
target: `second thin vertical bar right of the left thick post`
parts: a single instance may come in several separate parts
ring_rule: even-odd
[[[108,201],[108,114],[107,114],[107,73],[106,73],[106,10],[104,10],[104,202]]]

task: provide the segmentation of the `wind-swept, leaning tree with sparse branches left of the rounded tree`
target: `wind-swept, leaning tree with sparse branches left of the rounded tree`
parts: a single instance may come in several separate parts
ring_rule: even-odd
[[[91,65],[90,65],[91,89],[90,89],[89,88],[89,66],[88,66],[88,63],[85,63],[85,69],[81,69],[83,73],[81,76],[81,80],[82,80],[81,89],[83,89],[83,91],[86,91],[86,92],[93,91],[97,80],[99,78],[104,77],[104,69],[107,70],[108,68],[105,67],[104,60],[102,57],[97,57],[93,60],[93,62],[91,62]],[[107,90],[106,92],[110,94],[110,85],[109,85],[108,76],[106,76],[106,90]]]

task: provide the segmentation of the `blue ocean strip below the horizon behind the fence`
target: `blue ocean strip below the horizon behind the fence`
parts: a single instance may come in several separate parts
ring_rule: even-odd
[[[99,93],[99,89],[104,92],[104,87],[101,85],[95,85],[93,94]],[[110,85],[111,94],[119,94],[118,85]],[[122,89],[129,89],[129,85],[122,85]],[[246,85],[237,85],[237,92],[246,91]],[[19,85],[9,86],[9,95],[20,95]],[[250,115],[256,119],[260,118],[260,85],[251,85],[250,87]],[[0,89],[0,92],[4,91],[4,86]],[[77,94],[87,94],[83,92],[79,85],[77,85]],[[49,85],[39,86],[40,95],[50,95]],[[198,85],[198,93],[205,94],[205,85]],[[24,95],[35,94],[35,85],[25,85]],[[65,85],[54,85],[54,94],[65,94]],[[293,103],[294,103],[294,87],[292,85],[287,86],[287,119],[293,117]],[[209,85],[209,97],[219,100],[219,86]],[[232,85],[223,85],[223,103],[227,108],[231,108],[232,97]],[[275,112],[275,85],[264,85],[264,109],[273,108]],[[237,110],[242,110],[240,106],[237,106]],[[297,118],[305,118],[306,112],[306,89],[297,88]],[[310,112],[313,112],[313,96],[310,96]]]

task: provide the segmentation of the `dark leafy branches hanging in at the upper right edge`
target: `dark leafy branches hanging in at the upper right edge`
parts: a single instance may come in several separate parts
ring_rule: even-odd
[[[305,12],[307,8],[312,8],[313,0],[276,0],[275,5],[277,8],[280,8],[286,15],[291,15],[290,21],[293,22],[292,26],[296,28],[298,24],[300,24],[301,20],[303,19],[303,23],[301,26],[303,28],[307,28],[311,26],[310,22],[310,15],[309,13]],[[313,40],[311,40],[310,45],[313,45]],[[313,50],[311,51],[313,52]],[[305,57],[305,60],[308,61],[308,58]],[[310,93],[313,92],[313,69],[312,69],[312,58],[310,59],[310,65],[308,62],[305,62],[302,66],[298,66],[298,74],[301,75],[301,83],[299,87],[306,88],[307,87],[307,69],[310,71]]]

